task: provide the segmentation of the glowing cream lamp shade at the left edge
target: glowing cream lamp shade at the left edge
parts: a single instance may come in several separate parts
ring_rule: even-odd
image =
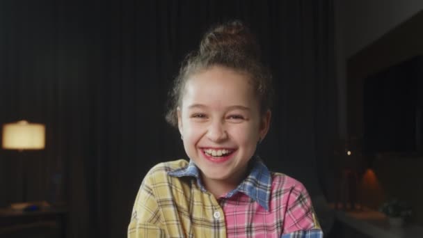
[[[42,150],[45,125],[26,120],[3,125],[2,148],[7,150]]]

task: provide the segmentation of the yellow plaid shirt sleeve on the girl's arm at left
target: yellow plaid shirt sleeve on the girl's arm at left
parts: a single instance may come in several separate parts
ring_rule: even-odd
[[[148,174],[136,196],[128,225],[128,238],[166,237],[161,228],[161,215]]]

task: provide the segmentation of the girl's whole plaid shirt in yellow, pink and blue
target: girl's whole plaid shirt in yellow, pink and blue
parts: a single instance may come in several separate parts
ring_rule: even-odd
[[[271,173],[260,159],[252,163],[248,177],[217,200],[192,162],[154,166],[138,191],[128,237],[323,237],[303,184]]]

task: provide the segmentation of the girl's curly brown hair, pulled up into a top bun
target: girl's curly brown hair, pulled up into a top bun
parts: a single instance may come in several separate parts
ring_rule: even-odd
[[[261,61],[260,46],[242,22],[231,21],[212,27],[203,36],[198,50],[188,54],[182,62],[168,97],[166,121],[170,125],[177,127],[177,107],[182,103],[186,81],[213,66],[247,74],[260,102],[260,113],[271,109],[272,77]]]

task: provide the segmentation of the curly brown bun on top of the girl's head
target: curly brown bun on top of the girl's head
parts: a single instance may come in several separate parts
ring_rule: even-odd
[[[260,58],[260,47],[250,30],[240,21],[231,21],[210,29],[200,42],[200,54],[226,52]]]

